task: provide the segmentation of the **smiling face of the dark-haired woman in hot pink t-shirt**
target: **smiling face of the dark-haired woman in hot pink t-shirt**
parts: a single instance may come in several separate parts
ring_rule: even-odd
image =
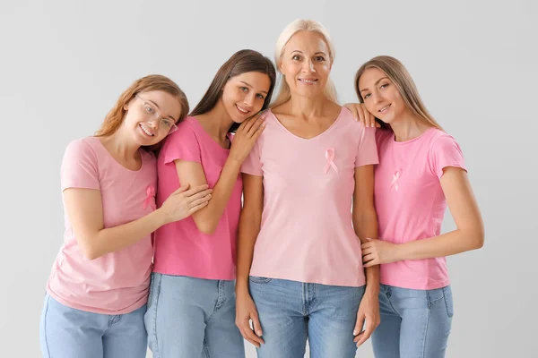
[[[240,124],[264,107],[270,88],[271,80],[265,73],[241,73],[226,82],[221,101],[233,122]]]

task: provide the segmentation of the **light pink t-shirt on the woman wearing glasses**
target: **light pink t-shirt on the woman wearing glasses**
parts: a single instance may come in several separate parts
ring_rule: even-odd
[[[99,190],[105,228],[143,217],[155,206],[152,192],[157,168],[152,153],[143,149],[140,153],[143,165],[133,171],[117,163],[99,138],[72,141],[62,162],[62,192],[68,188]],[[152,272],[151,235],[126,249],[87,260],[65,209],[64,241],[48,278],[48,294],[56,301],[103,314],[128,313],[146,303]]]

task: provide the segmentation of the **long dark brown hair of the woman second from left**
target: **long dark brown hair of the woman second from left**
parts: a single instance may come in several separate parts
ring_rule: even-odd
[[[274,82],[276,81],[276,71],[271,60],[254,50],[243,49],[231,55],[230,59],[221,65],[221,68],[215,74],[213,81],[204,94],[204,97],[198,102],[195,109],[190,115],[203,115],[211,111],[222,96],[222,89],[230,78],[246,72],[265,73],[271,81],[271,86],[265,96],[262,110],[269,106],[273,96]],[[232,124],[230,132],[235,132],[239,124]]]

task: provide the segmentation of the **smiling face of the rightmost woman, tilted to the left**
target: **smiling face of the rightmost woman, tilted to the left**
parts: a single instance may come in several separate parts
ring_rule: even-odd
[[[404,98],[385,72],[367,68],[359,79],[360,96],[369,113],[390,124],[408,111]]]

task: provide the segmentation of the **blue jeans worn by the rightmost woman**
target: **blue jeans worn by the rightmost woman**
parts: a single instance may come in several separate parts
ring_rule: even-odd
[[[454,306],[450,286],[412,290],[381,285],[381,324],[372,335],[376,358],[442,358]]]

